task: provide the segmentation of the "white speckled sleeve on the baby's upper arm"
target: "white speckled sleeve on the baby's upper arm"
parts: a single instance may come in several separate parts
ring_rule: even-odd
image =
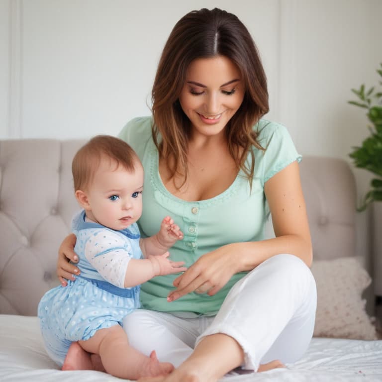
[[[119,288],[124,287],[127,266],[133,257],[127,238],[99,229],[87,240],[85,256],[106,281]]]

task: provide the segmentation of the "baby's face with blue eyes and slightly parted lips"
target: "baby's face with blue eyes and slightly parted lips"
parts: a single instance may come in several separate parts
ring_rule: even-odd
[[[132,173],[115,162],[101,162],[87,192],[90,219],[119,231],[141,217],[144,174],[139,161],[134,167]]]

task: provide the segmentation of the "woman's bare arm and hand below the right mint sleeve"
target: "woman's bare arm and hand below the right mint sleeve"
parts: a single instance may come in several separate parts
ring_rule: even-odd
[[[191,291],[213,295],[235,274],[251,271],[270,257],[288,253],[310,267],[312,245],[301,189],[298,163],[293,162],[265,184],[276,238],[224,245],[201,256],[175,279],[168,300],[173,301]]]

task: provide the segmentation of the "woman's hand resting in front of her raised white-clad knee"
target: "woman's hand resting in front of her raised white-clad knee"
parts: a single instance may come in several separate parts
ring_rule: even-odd
[[[167,300],[174,301],[193,291],[210,296],[216,294],[235,273],[240,272],[234,245],[228,244],[201,256],[174,280],[176,289],[169,293]]]

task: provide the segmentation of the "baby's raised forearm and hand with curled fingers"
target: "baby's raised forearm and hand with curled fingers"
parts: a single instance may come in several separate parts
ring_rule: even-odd
[[[154,236],[150,236],[140,240],[140,246],[145,258],[149,256],[162,255],[168,251],[177,240],[184,237],[179,225],[174,223],[170,216],[166,216],[162,220],[161,228]]]

